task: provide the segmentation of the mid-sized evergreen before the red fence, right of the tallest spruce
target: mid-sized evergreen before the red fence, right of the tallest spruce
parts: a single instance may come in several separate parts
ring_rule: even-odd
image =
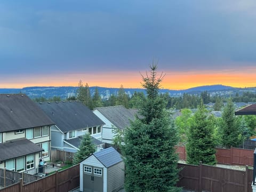
[[[198,165],[199,162],[214,165],[215,159],[215,140],[214,140],[214,120],[213,116],[207,118],[207,110],[203,101],[198,106],[194,115],[195,124],[189,129],[187,149],[187,162]]]

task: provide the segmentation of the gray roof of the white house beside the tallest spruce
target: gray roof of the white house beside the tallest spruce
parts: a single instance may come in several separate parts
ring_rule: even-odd
[[[126,109],[124,106],[97,107],[93,111],[98,110],[118,129],[124,129],[130,126],[130,120],[134,120],[137,110]]]

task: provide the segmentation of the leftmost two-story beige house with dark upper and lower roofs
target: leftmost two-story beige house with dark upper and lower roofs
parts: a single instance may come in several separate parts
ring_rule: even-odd
[[[35,172],[50,160],[51,119],[25,94],[0,94],[0,168]]]

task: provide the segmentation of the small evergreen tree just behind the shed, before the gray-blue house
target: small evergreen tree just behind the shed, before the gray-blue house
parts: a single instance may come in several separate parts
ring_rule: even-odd
[[[79,150],[76,152],[73,158],[73,164],[81,162],[83,159],[94,153],[95,148],[92,144],[92,138],[89,134],[83,135],[83,139],[80,143]]]

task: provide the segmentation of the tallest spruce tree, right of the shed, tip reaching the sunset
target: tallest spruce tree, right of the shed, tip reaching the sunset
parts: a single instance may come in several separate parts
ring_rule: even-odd
[[[177,131],[165,101],[158,90],[163,74],[157,77],[157,65],[150,66],[150,76],[142,76],[147,97],[141,102],[139,117],[127,128],[125,145],[125,190],[129,191],[180,191],[178,181]]]

